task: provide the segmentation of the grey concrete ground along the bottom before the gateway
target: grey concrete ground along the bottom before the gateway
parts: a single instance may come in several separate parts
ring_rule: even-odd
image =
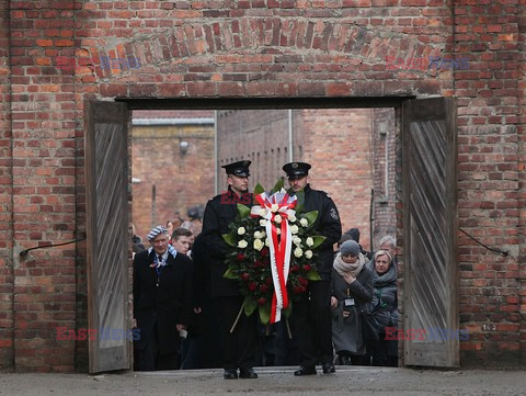
[[[295,367],[256,369],[258,380],[222,380],[222,370],[121,374],[0,374],[0,395],[526,395],[526,371],[336,366],[331,375],[295,377]]]

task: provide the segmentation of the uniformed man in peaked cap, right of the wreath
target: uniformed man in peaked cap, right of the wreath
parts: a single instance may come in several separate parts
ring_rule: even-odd
[[[329,195],[313,190],[309,184],[309,169],[306,162],[289,162],[283,166],[290,184],[290,194],[296,194],[305,212],[318,211],[313,231],[325,240],[317,249],[316,263],[321,281],[310,282],[301,299],[294,304],[291,324],[300,354],[300,367],[294,375],[316,374],[316,363],[320,362],[324,374],[334,373],[332,363],[331,324],[331,274],[333,263],[332,247],[342,235],[342,224],[336,205]]]

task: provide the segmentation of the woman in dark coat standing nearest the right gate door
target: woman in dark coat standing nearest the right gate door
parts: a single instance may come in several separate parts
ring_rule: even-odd
[[[379,340],[370,344],[373,365],[398,366],[398,341],[386,339],[386,327],[398,326],[397,265],[386,250],[378,250],[373,262],[375,281],[373,310],[379,324]]]

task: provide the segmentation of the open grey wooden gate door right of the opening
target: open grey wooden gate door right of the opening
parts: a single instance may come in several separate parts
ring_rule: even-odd
[[[459,365],[456,100],[412,100],[402,111],[404,363],[454,367]]]

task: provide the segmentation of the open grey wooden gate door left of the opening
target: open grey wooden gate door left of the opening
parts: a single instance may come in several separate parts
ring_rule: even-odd
[[[90,373],[130,369],[128,338],[128,109],[84,106]]]

